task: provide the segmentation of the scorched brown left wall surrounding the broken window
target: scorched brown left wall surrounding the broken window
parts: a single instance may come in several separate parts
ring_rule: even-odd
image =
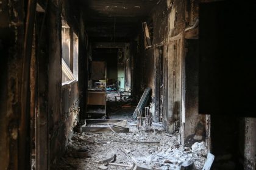
[[[85,83],[87,83],[87,56],[89,54],[89,42],[82,22],[82,13],[74,9],[75,2],[61,1],[51,16],[52,44],[49,52],[53,53],[49,58],[49,115],[50,117],[50,167],[54,168],[59,158],[63,155],[68,145],[68,140],[73,136],[73,127],[82,118],[81,110],[84,110],[82,102],[85,101]],[[74,32],[79,38],[79,81],[62,86],[62,21],[68,23],[71,33]],[[50,33],[51,35],[51,33]],[[72,34],[71,34],[72,35]],[[73,39],[73,37],[72,37]],[[73,47],[74,41],[70,42]],[[72,48],[71,48],[72,49]],[[73,51],[69,51],[71,58]],[[72,65],[72,64],[71,64]],[[70,65],[73,72],[73,66]],[[52,68],[52,70],[51,70]],[[55,73],[55,74],[52,74]],[[51,79],[52,78],[52,79]],[[84,92],[82,94],[82,92]],[[50,104],[52,103],[52,105]],[[57,109],[54,109],[56,108]],[[81,109],[80,109],[81,108]],[[79,114],[80,113],[80,114]],[[80,115],[80,118],[79,118]]]

